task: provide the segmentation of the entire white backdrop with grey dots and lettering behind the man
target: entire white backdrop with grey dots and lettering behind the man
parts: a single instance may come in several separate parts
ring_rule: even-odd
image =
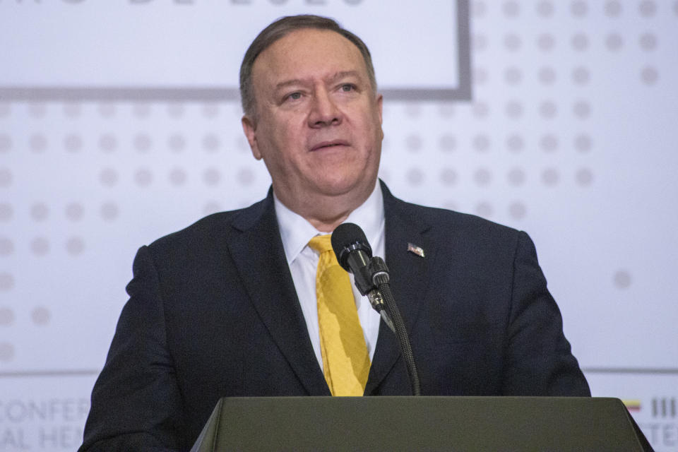
[[[266,194],[237,71],[299,12],[371,48],[394,194],[528,231],[594,396],[678,451],[678,1],[382,5],[0,0],[0,451],[78,446],[138,246]]]

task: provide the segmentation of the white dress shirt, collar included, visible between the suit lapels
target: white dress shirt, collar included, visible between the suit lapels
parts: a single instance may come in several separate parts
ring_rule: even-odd
[[[318,269],[319,254],[308,246],[309,240],[316,235],[327,234],[316,230],[310,222],[302,218],[297,213],[292,212],[281,203],[275,194],[275,215],[278,218],[278,227],[280,228],[280,237],[283,239],[285,248],[285,257],[287,265],[290,266],[292,280],[295,283],[297,297],[302,306],[306,326],[309,330],[311,345],[316,353],[316,358],[323,368],[323,358],[320,352],[320,333],[318,327],[318,304],[316,301],[316,270]],[[355,223],[365,232],[365,237],[369,241],[374,256],[384,256],[384,217],[383,217],[383,196],[381,195],[381,186],[376,183],[372,194],[362,203],[362,206],[353,210],[345,222]],[[353,275],[350,275],[353,297],[358,310],[358,318],[362,326],[362,333],[367,344],[369,359],[374,357],[374,347],[376,347],[376,338],[379,334],[379,321],[381,317],[372,309],[367,297],[360,295]]]

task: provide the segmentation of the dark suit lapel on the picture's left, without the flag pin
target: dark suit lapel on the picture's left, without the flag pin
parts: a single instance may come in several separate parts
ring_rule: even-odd
[[[228,246],[258,315],[309,395],[329,396],[285,260],[273,191],[243,210],[233,227]]]

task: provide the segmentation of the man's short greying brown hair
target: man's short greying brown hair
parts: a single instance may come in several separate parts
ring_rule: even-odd
[[[367,66],[369,84],[371,85],[372,91],[376,94],[376,77],[374,76],[372,57],[369,54],[367,45],[365,45],[359,37],[342,28],[336,20],[331,18],[312,15],[286,16],[275,20],[275,22],[261,30],[257,37],[254,38],[254,41],[249,45],[249,48],[242,59],[242,64],[240,65],[240,100],[242,102],[242,109],[247,116],[256,116],[256,102],[254,98],[254,88],[252,87],[252,68],[254,67],[256,57],[258,57],[261,52],[268,49],[268,47],[277,40],[280,40],[295,30],[301,30],[303,28],[315,28],[317,30],[337,32],[355,44],[355,47],[357,47],[362,54],[362,59],[365,62],[365,66]]]

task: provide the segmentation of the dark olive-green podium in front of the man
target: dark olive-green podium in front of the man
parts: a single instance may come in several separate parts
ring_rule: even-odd
[[[222,398],[191,451],[652,451],[616,398]]]

